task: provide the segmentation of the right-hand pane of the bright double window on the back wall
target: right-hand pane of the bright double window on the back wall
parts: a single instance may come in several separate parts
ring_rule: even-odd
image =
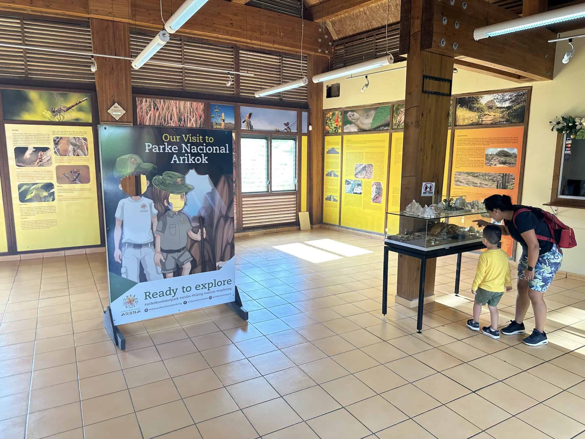
[[[297,139],[272,138],[273,192],[297,190]]]

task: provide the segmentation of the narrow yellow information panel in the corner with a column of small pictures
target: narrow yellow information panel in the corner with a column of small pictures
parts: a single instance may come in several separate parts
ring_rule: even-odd
[[[325,177],[323,222],[339,225],[339,179],[341,174],[341,136],[325,138]]]

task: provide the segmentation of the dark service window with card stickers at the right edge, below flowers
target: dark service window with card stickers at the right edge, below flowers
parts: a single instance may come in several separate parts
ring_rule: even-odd
[[[585,198],[585,140],[566,138],[559,176],[560,198]]]

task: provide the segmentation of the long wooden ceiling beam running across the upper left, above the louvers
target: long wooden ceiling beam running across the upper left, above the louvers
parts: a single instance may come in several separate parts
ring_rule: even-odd
[[[174,6],[180,2],[174,2]],[[99,18],[129,23],[130,27],[160,30],[159,0],[0,0],[0,9],[49,17]],[[171,2],[163,2],[168,18]],[[319,24],[304,20],[303,52],[319,56]],[[178,35],[236,43],[251,48],[300,53],[302,20],[289,15],[251,8],[236,2],[209,0],[185,23]]]

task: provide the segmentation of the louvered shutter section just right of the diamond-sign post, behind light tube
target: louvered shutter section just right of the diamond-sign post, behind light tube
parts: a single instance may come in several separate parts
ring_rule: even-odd
[[[135,58],[153,39],[154,33],[130,32],[130,52]],[[159,52],[152,57],[154,61],[183,64],[181,40],[171,37]],[[146,63],[138,70],[132,68],[132,85],[145,88],[171,88],[184,90],[183,68],[160,66]]]

